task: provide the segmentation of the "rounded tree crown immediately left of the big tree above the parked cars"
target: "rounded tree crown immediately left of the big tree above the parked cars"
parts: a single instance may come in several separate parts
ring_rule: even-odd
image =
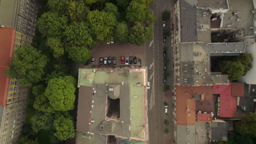
[[[91,46],[94,41],[91,37],[91,32],[85,22],[78,22],[69,25],[64,32],[69,44],[77,46]]]

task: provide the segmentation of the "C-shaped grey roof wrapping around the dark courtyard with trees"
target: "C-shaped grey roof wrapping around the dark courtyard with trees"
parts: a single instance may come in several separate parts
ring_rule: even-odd
[[[245,43],[181,43],[181,85],[229,83],[228,77],[211,72],[211,56],[237,56],[245,52]]]

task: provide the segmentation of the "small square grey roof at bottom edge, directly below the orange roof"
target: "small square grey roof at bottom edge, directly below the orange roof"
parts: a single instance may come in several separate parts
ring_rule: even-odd
[[[196,125],[177,124],[177,143],[194,144],[196,143]]]

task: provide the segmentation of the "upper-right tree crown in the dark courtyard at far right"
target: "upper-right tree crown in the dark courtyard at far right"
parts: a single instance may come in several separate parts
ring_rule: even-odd
[[[239,61],[245,66],[245,74],[246,74],[252,68],[253,57],[251,53],[245,52],[245,53],[241,53],[240,56],[236,57],[235,61]]]

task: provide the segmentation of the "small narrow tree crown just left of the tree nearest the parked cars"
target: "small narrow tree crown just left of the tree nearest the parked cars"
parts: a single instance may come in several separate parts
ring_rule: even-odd
[[[46,45],[53,50],[54,57],[60,57],[64,54],[64,46],[61,37],[50,37],[46,40]]]

